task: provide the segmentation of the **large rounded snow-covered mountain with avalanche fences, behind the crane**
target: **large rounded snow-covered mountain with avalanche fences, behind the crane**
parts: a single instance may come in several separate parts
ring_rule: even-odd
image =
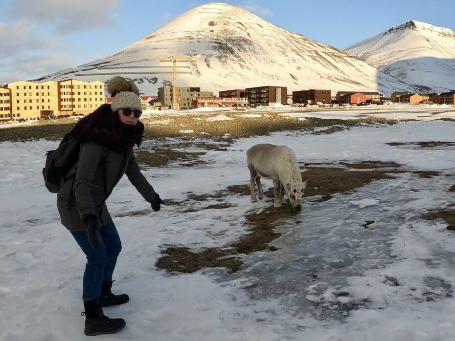
[[[201,55],[178,63],[178,86],[214,91],[262,85],[295,90],[410,91],[413,88],[363,60],[332,46],[284,30],[247,10],[226,3],[193,8],[112,56]],[[128,66],[128,68],[127,68]],[[156,60],[96,60],[39,80],[76,78],[106,82],[113,75],[137,80],[155,95],[172,83],[172,64]]]

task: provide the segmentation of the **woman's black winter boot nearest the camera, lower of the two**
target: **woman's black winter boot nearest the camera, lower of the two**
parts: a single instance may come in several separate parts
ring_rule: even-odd
[[[110,319],[104,316],[99,299],[84,301],[85,335],[114,334],[125,328],[123,319]]]

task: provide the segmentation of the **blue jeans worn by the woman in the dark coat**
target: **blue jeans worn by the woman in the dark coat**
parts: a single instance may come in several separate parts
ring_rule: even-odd
[[[114,222],[111,220],[101,228],[101,231],[96,231],[100,240],[98,250],[91,247],[85,231],[71,232],[71,234],[87,256],[82,281],[82,299],[87,301],[99,298],[101,284],[112,280],[117,256],[122,250],[122,243]]]

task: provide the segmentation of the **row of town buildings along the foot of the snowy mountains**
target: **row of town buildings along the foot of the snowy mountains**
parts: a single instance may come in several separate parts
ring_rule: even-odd
[[[174,90],[176,89],[176,96]],[[200,107],[259,107],[259,106],[333,106],[379,105],[385,102],[408,104],[455,104],[455,90],[439,93],[393,92],[390,97],[373,91],[338,91],[329,89],[292,91],[287,86],[256,86],[219,91],[200,87],[162,86],[158,95],[140,96],[142,110],[185,110]],[[16,81],[0,86],[0,122],[43,120],[86,115],[112,98],[105,97],[101,81]]]

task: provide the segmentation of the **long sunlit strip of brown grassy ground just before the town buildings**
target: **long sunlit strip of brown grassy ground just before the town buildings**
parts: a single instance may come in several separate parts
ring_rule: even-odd
[[[286,113],[283,110],[283,113]],[[306,110],[305,112],[309,112]],[[232,120],[211,121],[210,117],[224,115]],[[11,127],[0,129],[1,141],[28,141],[47,139],[58,141],[65,136],[79,118],[55,119],[33,122],[33,126]],[[306,118],[298,119],[278,115],[278,113],[262,114],[261,117],[240,117],[238,113],[218,113],[203,115],[182,115],[172,117],[150,117],[141,120],[144,123],[144,140],[156,140],[161,137],[180,137],[190,140],[195,136],[210,137],[212,140],[222,139],[224,143],[233,139],[251,136],[264,136],[276,131],[306,130],[315,134],[330,134],[343,129],[350,129],[361,125],[395,124],[382,118],[362,118],[357,120],[338,120]],[[154,124],[166,121],[166,124]],[[320,130],[318,128],[326,127]],[[183,133],[182,130],[192,130],[192,133]],[[227,147],[227,146],[225,146]],[[215,147],[216,148],[216,147]]]

